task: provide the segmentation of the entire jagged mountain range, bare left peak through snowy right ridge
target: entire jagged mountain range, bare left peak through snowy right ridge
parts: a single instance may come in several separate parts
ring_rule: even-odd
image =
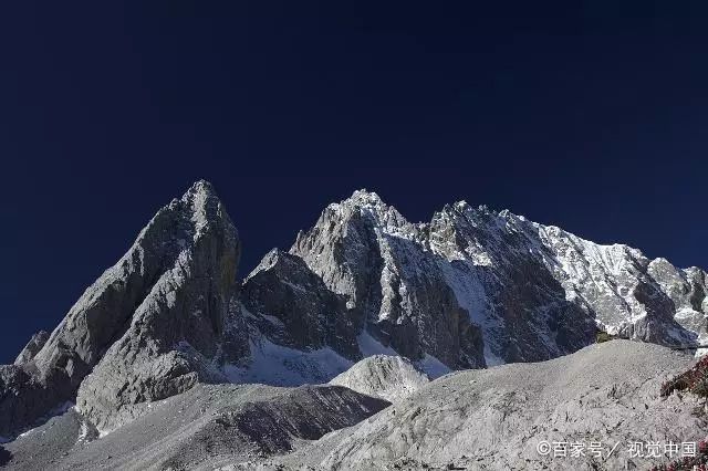
[[[205,181],[159,210],[51,335],[0,366],[0,436],[66,402],[106,433],[199,383],[326,383],[378,354],[435,378],[565,355],[600,328],[695,344],[708,308],[702,270],[465,202],[412,223],[361,190],[242,282],[240,250]]]

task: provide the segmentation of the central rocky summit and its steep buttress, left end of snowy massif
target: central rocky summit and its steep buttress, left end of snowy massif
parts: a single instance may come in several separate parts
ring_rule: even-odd
[[[481,331],[425,240],[425,228],[407,222],[375,193],[357,191],[330,205],[298,236],[291,253],[346,296],[354,325],[384,346],[413,359],[429,354],[452,368],[482,367]]]

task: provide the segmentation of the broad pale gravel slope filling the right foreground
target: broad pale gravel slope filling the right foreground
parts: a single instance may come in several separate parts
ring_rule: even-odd
[[[613,341],[542,363],[457,371],[283,462],[316,470],[648,469],[667,458],[632,458],[629,443],[708,433],[697,397],[660,397],[662,383],[693,363],[657,345]],[[584,456],[542,456],[544,440],[582,443]],[[602,444],[602,457],[591,442]]]

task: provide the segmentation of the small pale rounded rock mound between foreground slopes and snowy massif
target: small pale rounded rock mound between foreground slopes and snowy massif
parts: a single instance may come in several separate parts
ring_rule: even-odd
[[[410,360],[391,355],[364,358],[330,381],[389,402],[410,396],[428,383],[430,378]]]

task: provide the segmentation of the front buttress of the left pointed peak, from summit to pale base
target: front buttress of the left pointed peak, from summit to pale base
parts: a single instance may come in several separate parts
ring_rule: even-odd
[[[174,258],[79,389],[77,409],[102,430],[132,420],[143,402],[198,381],[223,381],[218,366],[248,355],[247,331],[240,337],[233,331],[240,323],[235,302],[240,248],[221,202],[199,182],[167,212],[165,229],[173,232],[160,241],[174,244]]]

